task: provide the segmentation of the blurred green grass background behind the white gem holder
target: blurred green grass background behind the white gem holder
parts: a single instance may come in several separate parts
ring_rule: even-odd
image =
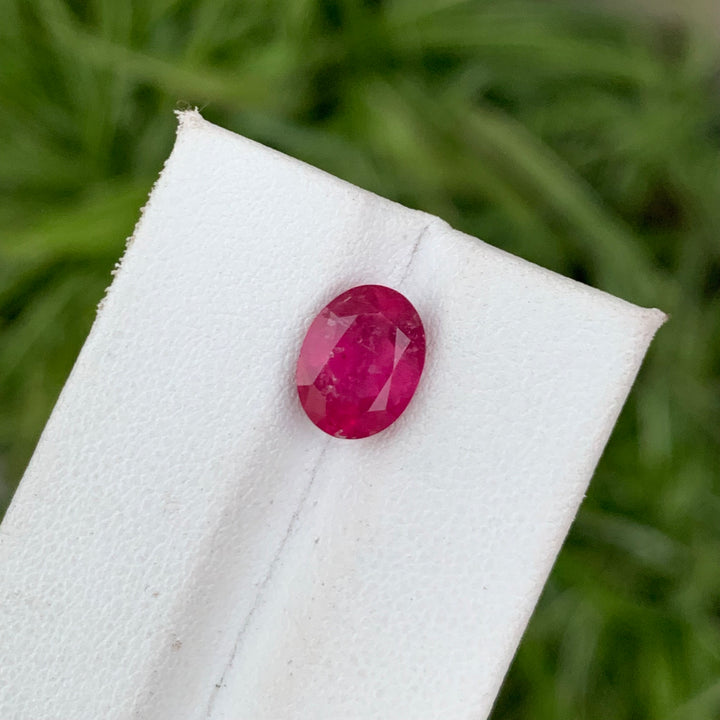
[[[720,718],[720,63],[510,0],[0,0],[0,512],[178,106],[669,312],[494,718]]]

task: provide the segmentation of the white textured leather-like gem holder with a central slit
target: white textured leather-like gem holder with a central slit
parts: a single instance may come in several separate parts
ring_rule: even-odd
[[[334,440],[361,283],[428,361]],[[0,528],[0,718],[482,720],[663,317],[185,114]]]

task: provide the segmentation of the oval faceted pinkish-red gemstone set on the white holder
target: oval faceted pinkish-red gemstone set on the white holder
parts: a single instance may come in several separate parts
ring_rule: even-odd
[[[298,358],[300,402],[329,435],[362,438],[395,422],[425,362],[420,316],[396,290],[360,285],[313,320]]]

